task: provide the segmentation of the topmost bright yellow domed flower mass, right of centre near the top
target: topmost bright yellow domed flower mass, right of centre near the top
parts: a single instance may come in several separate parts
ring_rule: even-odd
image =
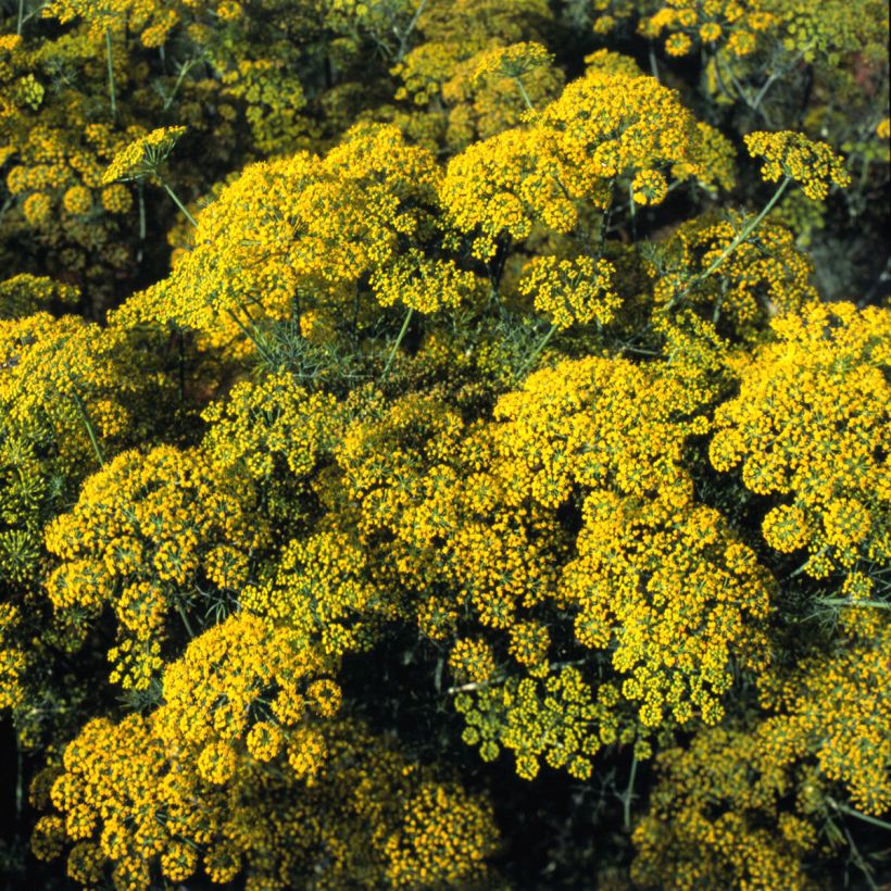
[[[585,205],[611,206],[623,178],[638,177],[635,188],[649,203],[664,197],[652,189],[661,170],[707,180],[697,163],[700,140],[672,90],[650,77],[592,68],[529,125],[454,158],[442,200],[454,225],[475,235],[474,252],[488,259],[500,239],[526,239],[535,225],[572,231]]]

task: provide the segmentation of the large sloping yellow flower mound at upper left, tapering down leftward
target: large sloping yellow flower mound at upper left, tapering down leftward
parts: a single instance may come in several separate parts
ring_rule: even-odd
[[[472,276],[421,254],[397,262],[401,240],[429,227],[439,178],[434,156],[392,126],[359,127],[324,159],[298,153],[252,165],[200,214],[194,247],[171,278],[116,319],[174,323],[212,344],[240,339],[243,350],[256,348],[260,323],[290,317],[301,292],[314,296],[301,312],[342,322],[369,276],[369,297],[379,292],[385,305],[415,276],[415,293],[439,278],[441,301],[454,302]],[[411,294],[406,305],[437,308]]]

